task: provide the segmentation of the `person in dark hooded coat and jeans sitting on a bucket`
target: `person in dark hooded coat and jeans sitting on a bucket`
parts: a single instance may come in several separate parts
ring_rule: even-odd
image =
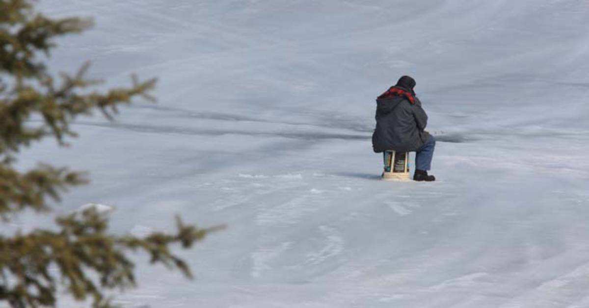
[[[435,180],[428,175],[435,139],[425,131],[428,116],[415,96],[415,80],[403,76],[395,86],[376,99],[376,129],[372,146],[376,153],[386,150],[416,152],[413,179]]]

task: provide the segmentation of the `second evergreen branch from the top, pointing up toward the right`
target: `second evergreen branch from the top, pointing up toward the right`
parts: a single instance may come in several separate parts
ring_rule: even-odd
[[[16,98],[1,100],[0,105],[0,153],[6,150],[16,151],[21,146],[47,135],[54,136],[61,145],[65,145],[64,136],[77,136],[70,129],[69,122],[80,115],[91,115],[92,110],[99,109],[107,119],[112,120],[117,114],[117,106],[128,105],[135,96],[153,100],[148,94],[155,88],[156,79],[137,82],[132,88],[111,89],[107,93],[92,92],[82,95],[77,90],[94,85],[97,81],[84,79],[88,64],[82,66],[76,76],[62,75],[64,82],[56,90],[52,78],[42,79],[45,93],[38,89],[22,86]],[[27,126],[27,120],[39,113],[44,119],[41,126]]]

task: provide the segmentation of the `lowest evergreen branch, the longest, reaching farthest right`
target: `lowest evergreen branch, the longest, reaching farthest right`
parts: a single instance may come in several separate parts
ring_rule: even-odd
[[[107,233],[106,217],[93,208],[59,217],[57,223],[61,227],[59,232],[35,230],[10,238],[0,236],[0,269],[16,279],[12,285],[0,283],[0,300],[30,307],[54,306],[57,282],[61,281],[75,299],[91,297],[94,307],[110,307],[101,288],[125,290],[136,285],[135,265],[125,256],[125,250],[146,252],[152,263],[192,277],[186,263],[170,252],[170,245],[191,246],[222,228],[198,229],[178,220],[176,234],[113,236]],[[58,267],[59,277],[49,272],[52,265]],[[91,273],[98,281],[90,278]]]

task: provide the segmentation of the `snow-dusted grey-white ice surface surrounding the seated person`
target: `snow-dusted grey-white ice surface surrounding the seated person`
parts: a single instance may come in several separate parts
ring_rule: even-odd
[[[57,212],[115,206],[119,233],[176,213],[229,226],[181,252],[194,281],[140,258],[116,303],[589,307],[587,1],[40,4],[97,24],[58,42],[55,69],[159,79],[156,105],[25,153],[90,172]],[[441,141],[434,183],[379,180],[375,98],[405,74]]]

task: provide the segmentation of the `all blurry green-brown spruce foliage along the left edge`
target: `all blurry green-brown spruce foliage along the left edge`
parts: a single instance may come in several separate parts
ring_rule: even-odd
[[[80,18],[52,19],[34,9],[34,0],[0,0],[0,223],[23,210],[39,215],[51,211],[66,189],[87,182],[82,173],[51,165],[22,172],[14,165],[19,150],[42,138],[59,145],[75,137],[70,123],[77,116],[100,111],[108,119],[117,106],[134,98],[153,100],[155,80],[128,88],[95,91],[85,78],[88,65],[75,75],[52,76],[44,65],[54,38],[80,33],[91,22]],[[40,118],[41,121],[31,121]],[[55,306],[58,289],[94,307],[111,307],[108,290],[135,286],[133,251],[151,256],[191,277],[187,264],[171,253],[171,245],[189,248],[219,227],[199,229],[177,218],[177,233],[145,237],[108,233],[108,217],[92,207],[58,217],[55,230],[0,235],[0,302],[12,307]],[[56,231],[57,230],[57,231]]]

